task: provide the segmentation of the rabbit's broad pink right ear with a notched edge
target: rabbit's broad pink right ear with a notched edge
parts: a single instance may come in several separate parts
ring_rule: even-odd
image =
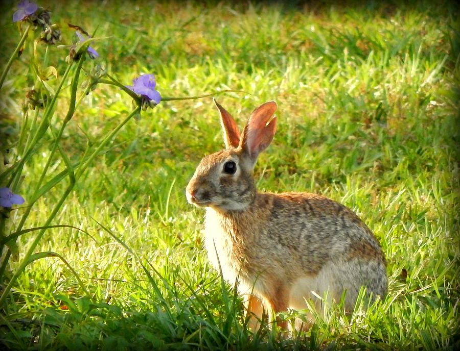
[[[255,164],[259,154],[273,140],[277,130],[277,117],[273,117],[277,110],[277,103],[269,101],[262,104],[250,115],[246,126],[243,130],[243,136],[240,140],[240,147],[249,156],[252,163]]]

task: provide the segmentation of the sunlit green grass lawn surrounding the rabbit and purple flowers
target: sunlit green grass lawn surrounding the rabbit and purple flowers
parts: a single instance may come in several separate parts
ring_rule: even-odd
[[[456,8],[206,2],[38,2],[110,39],[99,63],[129,84],[155,73],[163,96],[217,97],[242,125],[259,104],[279,104],[278,132],[256,167],[261,190],[311,191],[347,205],[379,238],[389,293],[367,312],[335,312],[284,340],[247,331],[240,298],[206,260],[203,211],[184,190],[202,156],[223,147],[211,99],[162,102],[130,121],[77,183],[0,320],[12,349],[379,349],[460,347],[458,213],[459,44]],[[2,4],[5,64],[18,40]],[[457,22],[455,22],[457,21]],[[65,42],[69,44],[70,42]],[[2,117],[18,122],[33,84],[25,51],[2,88]],[[53,48],[62,72],[67,49]],[[26,74],[27,73],[27,74]],[[98,87],[64,135],[71,160],[131,110],[130,98]],[[55,113],[55,122],[65,115]],[[37,182],[51,135],[25,168],[20,193]],[[56,170],[64,165],[56,162]],[[35,205],[42,225],[62,191]],[[20,216],[16,211],[14,216]],[[13,221],[18,218],[14,217]],[[21,253],[34,233],[20,237]],[[11,262],[14,271],[17,262]]]

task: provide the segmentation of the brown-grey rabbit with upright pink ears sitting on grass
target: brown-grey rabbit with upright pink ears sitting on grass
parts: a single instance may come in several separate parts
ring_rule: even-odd
[[[374,234],[347,207],[308,192],[258,192],[253,169],[276,130],[274,101],[252,112],[243,129],[214,99],[221,117],[225,149],[205,156],[186,188],[188,202],[206,210],[204,245],[212,265],[244,295],[249,327],[275,315],[305,309],[318,296],[353,311],[361,286],[383,298],[386,261]],[[265,312],[264,312],[265,311]],[[310,318],[312,316],[310,315]],[[298,326],[295,329],[306,328]],[[290,328],[291,329],[291,328]]]

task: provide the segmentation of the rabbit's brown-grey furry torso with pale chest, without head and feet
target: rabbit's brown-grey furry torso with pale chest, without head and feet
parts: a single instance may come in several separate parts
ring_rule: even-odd
[[[258,193],[244,211],[209,208],[205,223],[210,260],[232,283],[239,277],[246,288],[256,282],[256,290],[283,282],[321,291],[334,281],[337,294],[356,295],[361,285],[386,292],[377,239],[353,211],[324,196]]]

